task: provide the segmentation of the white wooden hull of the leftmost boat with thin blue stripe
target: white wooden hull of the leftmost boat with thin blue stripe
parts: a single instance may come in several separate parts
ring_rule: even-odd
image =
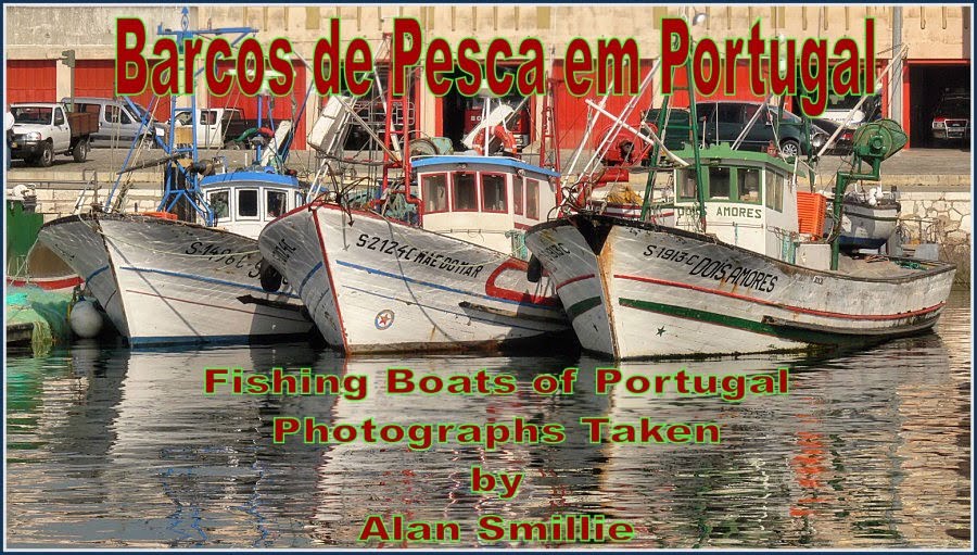
[[[83,276],[132,345],[312,331],[295,293],[262,289],[254,239],[155,217],[92,214],[50,222],[38,240]]]

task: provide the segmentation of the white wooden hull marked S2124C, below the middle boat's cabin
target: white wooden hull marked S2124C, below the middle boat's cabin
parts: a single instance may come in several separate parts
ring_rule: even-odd
[[[347,353],[495,350],[569,333],[559,300],[546,280],[526,280],[524,262],[372,213],[303,206],[258,245]]]

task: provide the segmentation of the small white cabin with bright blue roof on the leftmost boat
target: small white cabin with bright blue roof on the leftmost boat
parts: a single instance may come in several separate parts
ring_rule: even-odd
[[[294,176],[253,169],[203,177],[200,190],[215,226],[252,239],[269,222],[305,202]]]

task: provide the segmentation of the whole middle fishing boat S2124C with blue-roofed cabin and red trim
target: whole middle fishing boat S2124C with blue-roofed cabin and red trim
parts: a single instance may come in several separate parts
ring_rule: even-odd
[[[520,230],[557,205],[559,174],[506,156],[434,155],[411,159],[407,175],[375,210],[322,198],[258,237],[327,342],[364,353],[572,341],[548,279],[530,281],[513,256]]]

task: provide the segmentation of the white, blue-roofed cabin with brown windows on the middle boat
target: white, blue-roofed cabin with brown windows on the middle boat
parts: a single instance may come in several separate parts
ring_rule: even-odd
[[[422,156],[411,165],[424,229],[500,252],[522,250],[522,231],[545,222],[559,204],[559,174],[521,160]]]

